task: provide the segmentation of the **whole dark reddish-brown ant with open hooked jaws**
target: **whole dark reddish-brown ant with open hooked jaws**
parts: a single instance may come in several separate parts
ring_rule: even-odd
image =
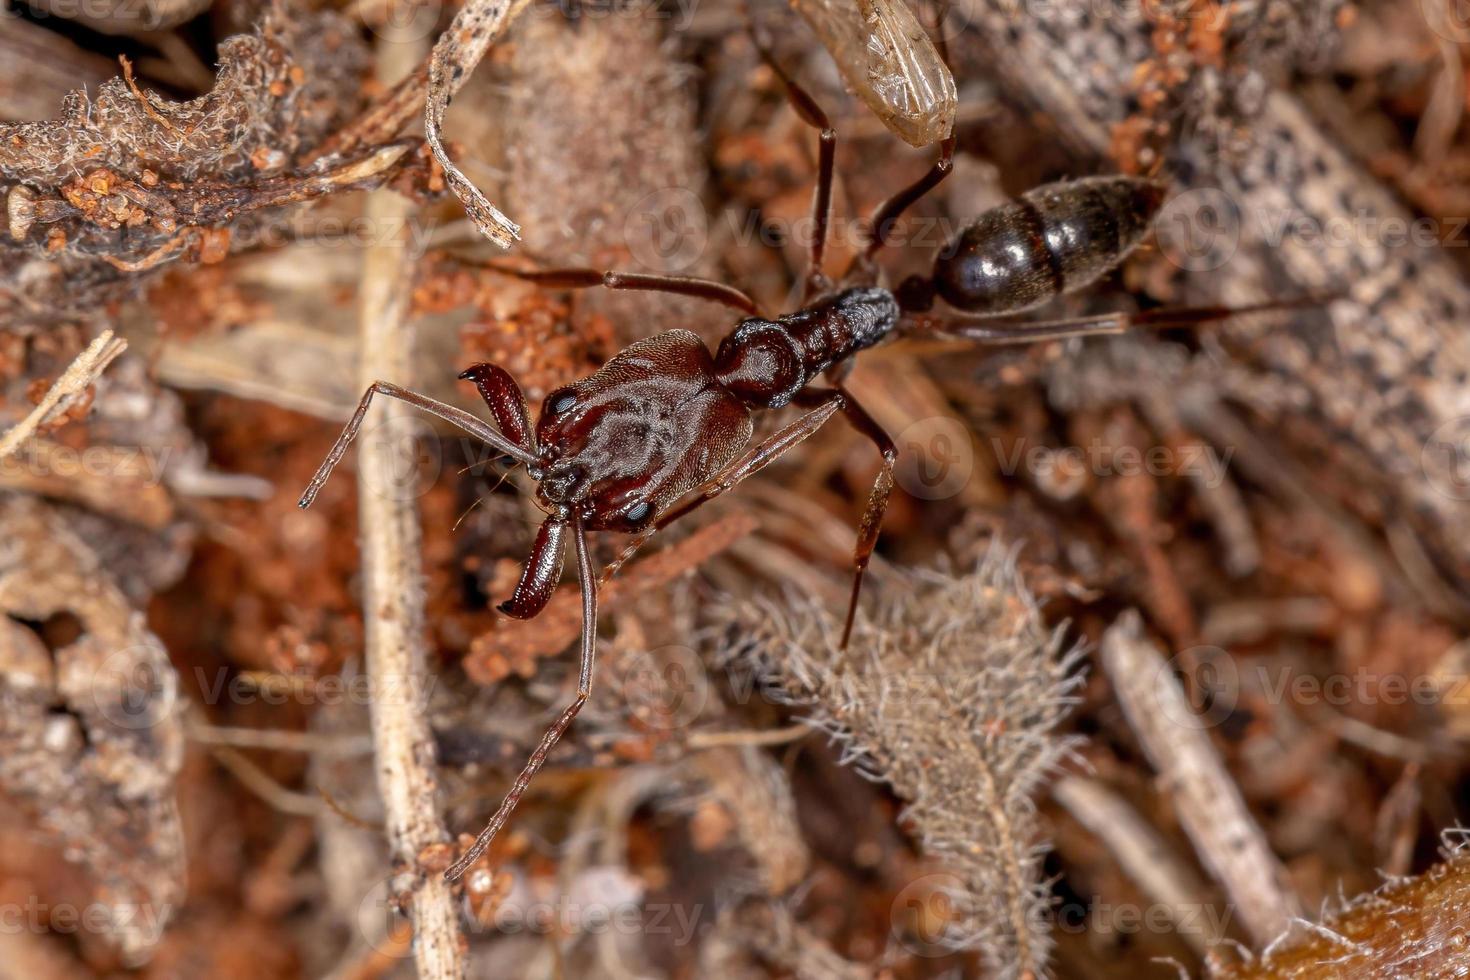
[[[713,356],[689,331],[667,331],[632,344],[589,378],[551,391],[534,426],[520,386],[497,364],[475,364],[459,375],[476,386],[495,426],[398,385],[373,382],[301,495],[300,505],[310,507],[362,426],[373,395],[387,395],[478,436],[523,463],[537,480],[537,504],[547,517],[512,597],[497,607],[501,613],[531,619],[545,607],[562,577],[567,538],[572,539],[582,588],[576,698],[547,729],[475,843],[444,873],[447,880],[460,877],[490,846],[591,695],[598,577],[588,552],[588,532],[638,535],[606,572],[612,574],[650,535],[734,489],[841,414],[882,455],[857,532],[853,591],[842,627],[845,646],[898,457],[894,441],[842,386],[860,351],[913,334],[1023,344],[1120,334],[1130,323],[1202,322],[1286,306],[1105,313],[1050,322],[1005,319],[1091,285],[1144,241],[1166,188],[1151,178],[1135,176],[1058,181],[1028,191],[964,228],[939,253],[929,276],[910,276],[895,289],[878,285],[875,257],[888,244],[898,217],[953,170],[954,137],[941,143],[939,159],[923,176],[878,207],[864,226],[863,250],[833,284],[822,273],[822,260],[836,132],[806,90],[776,65],[763,44],[757,41],[757,47],[785,87],[792,109],[820,132],[813,239],[797,310],[767,319],[742,289],[710,279],[597,269],[523,270],[482,263],[494,272],[556,289],[601,287],[697,297],[725,304],[744,319]],[[936,314],[936,300],[954,313]],[[819,375],[828,378],[826,385],[814,383]],[[747,448],[754,430],[751,416],[788,404],[807,411]]]

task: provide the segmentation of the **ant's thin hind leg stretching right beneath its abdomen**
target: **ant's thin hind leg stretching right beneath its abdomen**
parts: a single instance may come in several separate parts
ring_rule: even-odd
[[[1323,306],[1335,295],[1308,294],[1291,300],[1266,300],[1247,306],[1180,306],[1144,310],[1141,313],[1097,313],[1058,320],[1017,320],[985,316],[933,316],[928,313],[904,317],[906,335],[938,334],[978,344],[1030,344],[1067,336],[1101,336],[1123,334],[1132,326],[1195,326],[1248,313],[1274,313]]]

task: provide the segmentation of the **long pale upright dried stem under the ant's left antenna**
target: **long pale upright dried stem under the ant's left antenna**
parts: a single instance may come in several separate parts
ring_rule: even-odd
[[[384,46],[379,69],[409,46]],[[390,68],[391,71],[391,68]],[[413,256],[406,245],[412,204],[388,191],[368,197],[366,216],[381,234],[363,256],[357,294],[359,385],[379,378],[407,383],[412,338],[406,326],[413,284]],[[417,870],[426,849],[442,846],[448,833],[440,818],[434,739],[422,696],[428,673],[423,644],[423,576],[416,501],[395,486],[395,445],[410,438],[401,426],[407,408],[379,408],[387,423],[363,430],[359,444],[357,513],[362,529],[363,619],[366,667],[375,689],[372,736],[378,761],[388,845],[394,861]],[[419,977],[456,980],[465,976],[463,939],[454,893],[438,874],[415,874],[409,902]]]

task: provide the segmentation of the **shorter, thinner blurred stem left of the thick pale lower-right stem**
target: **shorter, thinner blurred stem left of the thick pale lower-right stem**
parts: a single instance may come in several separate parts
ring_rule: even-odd
[[[1180,936],[1201,956],[1220,940],[1208,920],[1197,914],[1205,899],[1204,882],[1127,801],[1097,779],[1067,776],[1051,789],[1053,798],[1092,832],[1148,898],[1166,907]],[[1191,927],[1204,921],[1205,929]]]

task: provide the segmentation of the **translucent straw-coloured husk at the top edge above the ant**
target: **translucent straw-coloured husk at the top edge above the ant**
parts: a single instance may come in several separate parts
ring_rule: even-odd
[[[792,0],[847,84],[906,143],[954,129],[954,76],[904,0]]]

